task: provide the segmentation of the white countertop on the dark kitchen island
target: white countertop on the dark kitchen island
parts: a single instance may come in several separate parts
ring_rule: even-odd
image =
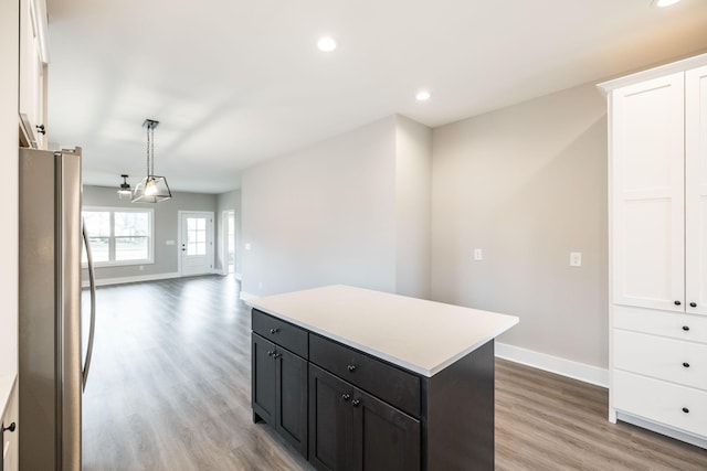
[[[515,315],[341,285],[249,304],[424,376],[518,323]]]

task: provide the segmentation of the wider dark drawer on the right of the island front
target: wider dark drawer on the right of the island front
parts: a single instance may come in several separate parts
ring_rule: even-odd
[[[309,361],[399,409],[420,417],[418,376],[316,334],[309,334]]]

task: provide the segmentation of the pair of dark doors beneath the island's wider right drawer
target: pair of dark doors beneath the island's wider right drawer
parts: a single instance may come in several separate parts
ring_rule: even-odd
[[[420,469],[420,421],[309,364],[309,461],[323,471]]]

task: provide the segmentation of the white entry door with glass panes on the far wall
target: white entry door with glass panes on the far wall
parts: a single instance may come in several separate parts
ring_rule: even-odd
[[[181,276],[204,275],[213,269],[213,213],[179,212]]]

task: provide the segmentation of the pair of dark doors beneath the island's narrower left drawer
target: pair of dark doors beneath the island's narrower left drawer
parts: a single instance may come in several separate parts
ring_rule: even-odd
[[[307,361],[254,332],[252,365],[253,421],[271,424],[307,456]]]

